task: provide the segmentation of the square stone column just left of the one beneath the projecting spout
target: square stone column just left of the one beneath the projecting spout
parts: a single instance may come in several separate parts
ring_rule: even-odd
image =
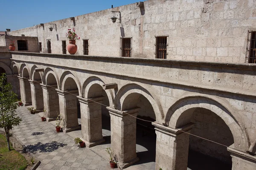
[[[93,147],[105,140],[102,137],[102,103],[104,97],[82,98],[77,96],[81,110],[81,131],[86,147]],[[95,103],[96,101],[97,103]]]

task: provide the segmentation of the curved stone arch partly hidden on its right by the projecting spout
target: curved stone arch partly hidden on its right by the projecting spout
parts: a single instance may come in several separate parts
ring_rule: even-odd
[[[100,86],[103,86],[105,83],[102,81],[102,79],[92,76],[87,78],[86,81],[84,81],[83,87],[82,87],[82,97],[88,98],[88,92],[89,89],[94,85],[99,84]],[[108,95],[108,101],[110,104],[110,107],[113,107],[113,92],[112,90],[105,90],[106,94]]]

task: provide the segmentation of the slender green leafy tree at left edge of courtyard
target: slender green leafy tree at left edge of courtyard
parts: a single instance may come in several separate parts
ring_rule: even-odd
[[[12,85],[6,83],[6,75],[0,77],[0,128],[4,128],[8,149],[10,148],[10,130],[20,124],[22,119],[17,116],[17,95],[12,91]]]

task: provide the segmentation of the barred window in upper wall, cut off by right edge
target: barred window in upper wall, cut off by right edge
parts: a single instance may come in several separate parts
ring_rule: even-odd
[[[256,63],[256,30],[248,31],[245,63]]]

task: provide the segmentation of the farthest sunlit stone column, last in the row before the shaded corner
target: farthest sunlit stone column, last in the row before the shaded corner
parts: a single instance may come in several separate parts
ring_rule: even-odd
[[[20,97],[24,106],[31,105],[31,88],[29,84],[29,78],[23,78],[18,76],[20,81]]]

